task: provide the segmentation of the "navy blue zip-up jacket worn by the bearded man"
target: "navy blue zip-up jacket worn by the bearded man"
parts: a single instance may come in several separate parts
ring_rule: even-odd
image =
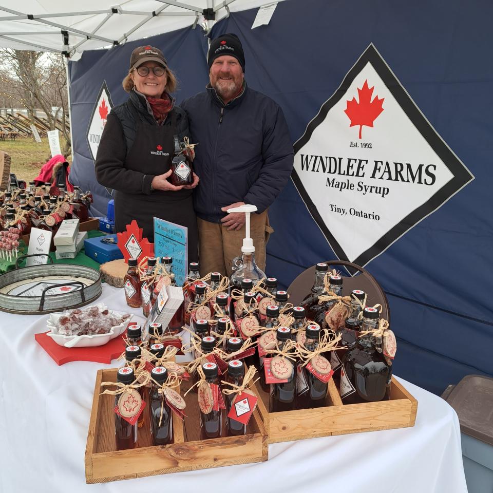
[[[293,169],[293,144],[281,108],[244,83],[243,92],[224,105],[207,86],[180,105],[188,116],[195,147],[194,191],[197,216],[219,222],[234,202],[266,210]]]

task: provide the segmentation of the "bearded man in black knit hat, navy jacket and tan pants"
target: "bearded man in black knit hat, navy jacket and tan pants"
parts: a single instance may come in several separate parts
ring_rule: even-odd
[[[194,193],[199,229],[200,271],[231,275],[241,255],[245,215],[227,214],[242,204],[251,215],[255,260],[266,267],[266,243],[273,231],[268,207],[286,185],[293,168],[293,146],[281,108],[247,86],[245,58],[235,34],[211,43],[207,55],[210,84],[182,103],[195,148]]]

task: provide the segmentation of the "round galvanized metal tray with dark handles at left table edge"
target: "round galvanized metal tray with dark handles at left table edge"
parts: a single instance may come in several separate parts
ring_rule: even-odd
[[[0,275],[0,310],[34,315],[82,307],[101,296],[101,274],[90,267],[53,264],[18,268]]]

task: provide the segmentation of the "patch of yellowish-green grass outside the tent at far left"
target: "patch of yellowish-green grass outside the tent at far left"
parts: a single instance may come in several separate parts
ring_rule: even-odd
[[[15,140],[0,141],[0,150],[10,156],[10,173],[15,173],[17,179],[32,181],[40,173],[41,166],[51,159],[48,139],[41,138],[37,143],[29,137],[17,137]],[[64,148],[65,140],[60,138],[60,146]],[[72,158],[67,158],[69,163]]]

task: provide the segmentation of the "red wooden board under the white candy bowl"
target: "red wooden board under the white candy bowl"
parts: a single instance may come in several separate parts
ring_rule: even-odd
[[[103,346],[93,348],[66,348],[59,346],[51,337],[46,335],[47,333],[34,334],[34,338],[59,366],[69,361],[94,361],[96,363],[110,364],[112,359],[118,358],[125,350],[123,336],[126,332],[115,337],[115,339],[111,339]]]

